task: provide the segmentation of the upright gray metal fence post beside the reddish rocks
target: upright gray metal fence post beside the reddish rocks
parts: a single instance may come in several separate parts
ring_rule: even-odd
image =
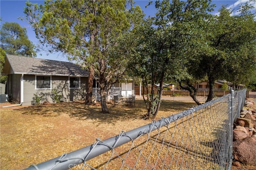
[[[234,90],[230,89],[230,163],[228,169],[231,169],[233,160],[233,128],[234,128]]]

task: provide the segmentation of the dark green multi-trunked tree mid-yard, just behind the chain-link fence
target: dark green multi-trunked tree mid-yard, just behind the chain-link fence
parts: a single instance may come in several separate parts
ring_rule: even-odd
[[[147,113],[145,119],[154,119],[160,108],[160,101],[163,91],[163,84],[170,69],[172,56],[168,54],[166,43],[168,38],[166,32],[152,25],[152,20],[148,18],[133,30],[126,39],[126,45],[122,45],[130,60],[128,70],[133,76],[140,77],[143,84],[143,99],[146,104]],[[129,42],[129,43],[127,43]],[[132,42],[132,43],[131,43]],[[155,84],[160,84],[155,89]],[[145,90],[146,88],[146,90]],[[144,92],[146,91],[146,94]]]

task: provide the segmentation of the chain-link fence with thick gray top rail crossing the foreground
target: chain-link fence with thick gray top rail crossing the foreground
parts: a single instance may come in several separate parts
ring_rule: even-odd
[[[233,120],[239,116],[246,89],[90,146],[63,154],[27,170],[231,169]]]

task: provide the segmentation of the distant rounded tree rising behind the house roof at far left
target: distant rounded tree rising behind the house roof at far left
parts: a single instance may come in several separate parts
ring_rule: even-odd
[[[33,43],[28,39],[26,28],[16,22],[5,22],[0,30],[1,48],[10,55],[36,57]]]

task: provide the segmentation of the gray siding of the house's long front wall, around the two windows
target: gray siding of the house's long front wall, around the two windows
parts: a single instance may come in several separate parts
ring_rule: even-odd
[[[51,89],[36,89],[36,76],[24,75],[24,100],[22,105],[35,104],[35,96],[43,96],[41,103],[48,101],[53,102],[51,94],[55,90],[58,95],[62,96],[64,102],[70,102],[74,100],[84,100],[86,95],[86,83],[88,78],[80,78],[80,88],[70,89],[68,88],[68,76],[52,76],[52,88]]]

